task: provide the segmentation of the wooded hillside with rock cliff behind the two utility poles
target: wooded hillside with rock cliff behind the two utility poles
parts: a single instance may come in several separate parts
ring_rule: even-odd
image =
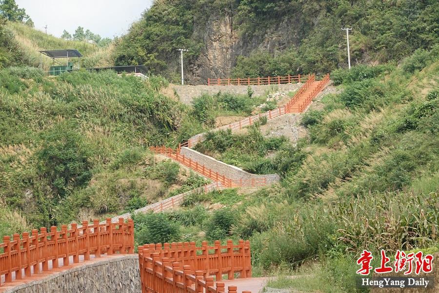
[[[399,61],[438,43],[436,1],[156,1],[122,37],[117,64],[145,64],[187,80],[327,73],[346,66],[341,26],[353,27],[352,63]],[[249,57],[250,56],[250,57]],[[249,58],[247,58],[249,57]],[[235,68],[236,66],[236,68]]]

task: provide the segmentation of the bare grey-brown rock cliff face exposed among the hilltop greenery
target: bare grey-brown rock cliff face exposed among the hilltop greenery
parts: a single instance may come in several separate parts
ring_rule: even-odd
[[[275,24],[261,27],[259,35],[248,37],[239,33],[233,26],[232,13],[211,15],[204,24],[194,27],[194,38],[200,38],[203,47],[200,56],[189,64],[187,76],[189,84],[206,84],[207,78],[230,77],[231,71],[240,55],[248,56],[254,50],[276,52],[298,45],[299,16],[289,16]]]

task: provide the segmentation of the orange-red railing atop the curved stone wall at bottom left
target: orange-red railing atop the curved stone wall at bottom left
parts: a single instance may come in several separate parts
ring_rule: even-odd
[[[83,221],[82,226],[72,224],[71,229],[66,225],[57,230],[52,226],[32,230],[32,233],[3,237],[0,244],[0,286],[4,277],[5,283],[20,280],[50,271],[73,263],[90,260],[90,254],[100,257],[101,254],[134,253],[134,223],[129,219],[127,223],[121,218],[118,223],[111,223],[107,219],[105,224],[94,220],[93,224]],[[24,274],[23,274],[24,271]]]

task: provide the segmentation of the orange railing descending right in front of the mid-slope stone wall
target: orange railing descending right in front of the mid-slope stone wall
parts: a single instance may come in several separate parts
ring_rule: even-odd
[[[190,167],[191,169],[195,170],[197,173],[200,173],[202,176],[212,179],[215,182],[220,182],[222,186],[226,188],[243,187],[243,186],[258,187],[258,186],[264,186],[267,183],[266,178],[252,178],[250,180],[243,180],[243,179],[232,180],[230,178],[227,178],[224,175],[221,175],[220,173],[208,167],[205,167],[204,165],[198,164],[198,162],[180,154],[180,148],[172,149],[170,147],[165,147],[165,146],[151,146],[150,150],[158,154],[163,154],[168,158],[180,162],[184,166]]]

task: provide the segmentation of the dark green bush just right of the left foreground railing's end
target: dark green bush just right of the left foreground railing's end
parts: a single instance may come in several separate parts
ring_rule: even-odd
[[[145,213],[132,216],[135,223],[136,243],[139,245],[150,243],[165,243],[179,239],[178,225],[168,219],[163,213]]]

